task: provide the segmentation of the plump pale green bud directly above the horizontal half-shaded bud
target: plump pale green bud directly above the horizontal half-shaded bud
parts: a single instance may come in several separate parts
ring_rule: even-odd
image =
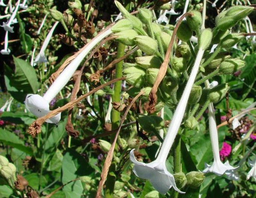
[[[157,51],[157,42],[149,36],[136,36],[134,41],[147,55],[154,55]]]

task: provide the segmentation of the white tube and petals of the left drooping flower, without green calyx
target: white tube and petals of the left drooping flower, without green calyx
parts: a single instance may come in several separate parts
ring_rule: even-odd
[[[105,32],[102,32],[101,34],[93,38],[91,42],[86,44],[83,51],[81,51],[80,54],[78,54],[78,56],[75,57],[70,64],[68,64],[68,66],[62,71],[62,73],[52,83],[52,85],[50,86],[50,88],[47,90],[47,92],[44,94],[43,97],[37,94],[28,94],[25,99],[26,108],[37,117],[46,115],[50,111],[49,110],[50,101],[53,98],[55,98],[55,96],[60,92],[60,90],[67,84],[67,82],[70,80],[74,72],[77,70],[77,67],[80,65],[84,57],[86,57],[86,55],[90,52],[90,50],[93,47],[95,47],[96,44],[98,44],[105,36],[108,36],[111,33],[112,33],[111,29],[107,29]],[[46,122],[58,123],[60,119],[61,119],[61,114],[58,114],[46,120]]]

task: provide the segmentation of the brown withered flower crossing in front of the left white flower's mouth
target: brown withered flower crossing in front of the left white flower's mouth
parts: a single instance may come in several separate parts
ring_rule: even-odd
[[[69,103],[67,103],[66,105],[59,107],[58,109],[55,109],[53,111],[50,111],[48,114],[46,114],[45,116],[42,116],[40,118],[37,118],[36,121],[34,121],[30,127],[28,128],[28,133],[31,134],[33,137],[36,137],[36,134],[41,132],[41,125],[46,121],[46,119],[51,118],[52,116],[55,116],[63,111],[66,111],[67,109],[75,106],[75,104],[77,104],[78,102],[80,102],[81,100],[83,100],[84,98],[86,98],[87,96],[95,93],[96,91],[102,89],[105,86],[108,86],[116,81],[119,80],[125,80],[125,77],[121,77],[118,79],[114,79],[114,80],[110,80],[109,82],[102,84],[98,87],[96,87],[95,89],[91,90],[90,92],[84,94],[83,96],[80,96],[79,98],[70,101]]]

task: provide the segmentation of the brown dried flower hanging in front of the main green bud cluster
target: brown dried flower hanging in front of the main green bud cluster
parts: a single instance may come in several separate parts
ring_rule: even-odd
[[[166,54],[165,54],[165,57],[164,57],[164,61],[163,61],[163,63],[161,64],[161,66],[159,68],[157,78],[155,79],[155,83],[154,83],[154,85],[151,89],[151,92],[149,93],[149,103],[148,103],[148,106],[147,106],[147,109],[146,109],[146,111],[149,114],[152,114],[153,112],[155,112],[155,105],[157,103],[157,94],[156,94],[157,89],[158,89],[158,86],[160,85],[161,81],[163,80],[163,78],[166,74],[166,71],[167,71],[167,68],[168,68],[168,63],[169,63],[169,60],[170,60],[170,55],[171,55],[172,48],[173,48],[173,43],[175,41],[176,32],[177,32],[177,30],[179,28],[179,25],[181,24],[183,18],[188,16],[188,15],[192,16],[193,13],[187,12],[184,15],[182,15],[181,18],[179,19],[178,23],[176,24],[174,30],[173,30],[172,38],[171,38],[171,41],[168,45],[168,48],[167,48],[167,51],[166,51]]]

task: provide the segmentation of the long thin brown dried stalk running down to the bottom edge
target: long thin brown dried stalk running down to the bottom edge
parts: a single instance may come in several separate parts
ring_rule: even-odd
[[[106,181],[106,178],[107,178],[107,175],[108,175],[108,170],[110,168],[110,165],[111,165],[111,162],[112,162],[112,159],[113,159],[113,153],[114,153],[114,148],[115,148],[115,143],[117,141],[117,137],[119,135],[119,132],[121,130],[121,126],[130,110],[130,108],[132,107],[133,103],[135,103],[135,101],[142,95],[144,94],[144,91],[141,91],[138,93],[138,95],[136,95],[132,102],[129,104],[129,106],[127,107],[126,111],[124,112],[124,115],[121,119],[121,122],[119,124],[119,127],[118,127],[118,130],[117,130],[117,133],[115,134],[115,138],[114,138],[114,141],[110,147],[110,150],[108,151],[108,154],[107,154],[107,157],[106,157],[106,160],[105,160],[105,163],[104,163],[104,167],[102,169],[102,173],[101,173],[101,181],[99,182],[99,187],[98,187],[98,190],[97,190],[97,194],[96,194],[96,197],[97,198],[101,198],[101,191],[102,191],[102,187]]]

